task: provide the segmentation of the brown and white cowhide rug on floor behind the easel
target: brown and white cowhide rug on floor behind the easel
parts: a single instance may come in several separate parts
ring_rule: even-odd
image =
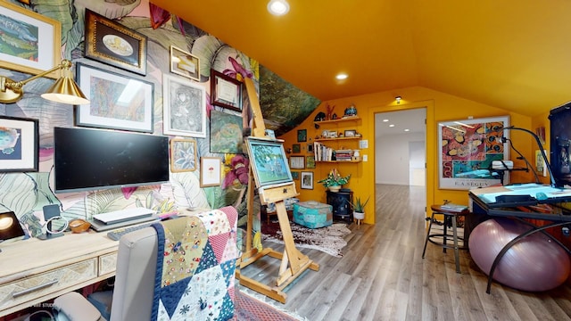
[[[343,257],[343,247],[347,245],[343,237],[351,234],[346,224],[334,223],[320,228],[307,228],[295,223],[291,223],[291,226],[296,247],[323,251],[337,258]],[[279,223],[262,224],[261,239],[283,244],[284,238]]]

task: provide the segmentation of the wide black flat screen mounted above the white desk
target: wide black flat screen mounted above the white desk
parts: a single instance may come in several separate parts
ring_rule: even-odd
[[[55,192],[169,181],[169,137],[87,128],[54,128]]]

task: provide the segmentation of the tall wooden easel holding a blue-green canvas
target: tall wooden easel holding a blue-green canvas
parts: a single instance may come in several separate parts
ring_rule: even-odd
[[[246,251],[236,262],[236,279],[240,284],[260,292],[269,298],[285,303],[285,286],[294,282],[295,278],[310,268],[319,270],[319,264],[303,255],[295,248],[294,235],[285,210],[285,199],[298,195],[291,171],[287,165],[287,158],[283,141],[266,136],[265,125],[261,117],[260,104],[257,101],[252,79],[245,78],[244,83],[252,104],[252,136],[246,139],[248,155],[250,157],[251,174],[248,183],[248,223],[246,235]],[[253,98],[252,98],[253,97]],[[277,252],[271,248],[257,249],[252,247],[252,221],[253,221],[253,191],[254,183],[260,195],[260,202],[276,204],[277,220],[284,239],[284,252]],[[275,284],[268,285],[243,276],[241,269],[247,267],[258,259],[270,256],[281,259],[279,273]]]

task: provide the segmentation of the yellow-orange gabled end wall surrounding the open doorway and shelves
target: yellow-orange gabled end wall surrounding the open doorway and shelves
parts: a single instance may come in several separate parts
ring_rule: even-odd
[[[394,100],[396,95],[401,95],[402,100],[397,104]],[[297,128],[285,133],[279,138],[284,139],[285,149],[291,148],[292,144],[297,143],[297,130],[307,129],[308,142],[299,143],[302,147],[306,144],[313,142],[315,136],[319,136],[323,129],[329,127],[316,129],[314,127],[313,119],[319,111],[326,112],[326,105],[335,106],[335,113],[342,116],[343,111],[351,103],[354,103],[358,115],[361,120],[355,125],[339,125],[339,129],[352,129],[355,128],[357,132],[361,133],[363,138],[368,139],[368,149],[361,150],[361,154],[368,155],[367,162],[360,163],[317,163],[316,169],[302,169],[302,171],[314,172],[314,188],[313,190],[301,189],[299,180],[296,181],[296,188],[300,193],[299,198],[304,201],[319,201],[326,202],[325,187],[318,184],[319,179],[327,176],[329,170],[334,167],[337,168],[343,176],[351,174],[352,178],[348,185],[344,187],[351,188],[355,196],[367,198],[368,195],[375,194],[375,113],[385,111],[401,111],[413,108],[426,107],[426,206],[429,209],[431,204],[442,203],[443,200],[450,200],[451,202],[468,204],[468,191],[458,190],[441,190],[438,188],[438,170],[437,170],[437,148],[438,142],[436,141],[437,123],[439,121],[484,118],[493,116],[509,115],[510,125],[521,128],[532,129],[531,117],[508,112],[495,108],[483,103],[476,103],[453,95],[447,95],[425,87],[408,87],[403,89],[395,89],[391,91],[380,92],[371,95],[360,95],[354,97],[347,97],[343,99],[336,99],[333,101],[323,102],[307,119],[305,119]],[[545,117],[546,118],[546,117]],[[535,121],[539,122],[541,117]],[[535,124],[535,122],[534,122]],[[334,128],[331,128],[334,129]],[[533,129],[534,130],[534,129]],[[520,131],[511,131],[510,138],[516,145],[517,150],[524,154],[528,160],[533,159],[534,139]],[[347,143],[345,145],[349,145]],[[352,143],[351,143],[352,144]],[[355,143],[356,144],[356,143]],[[352,148],[358,148],[357,145]],[[307,156],[310,153],[305,148],[299,154],[290,155],[303,155]],[[514,161],[515,167],[524,167],[523,161],[517,161],[515,153],[511,152],[511,157]],[[294,169],[296,170],[296,169]],[[525,172],[512,172],[512,183],[522,183],[533,181],[534,177],[531,173]],[[372,200],[372,199],[371,199]],[[375,202],[369,202],[366,208],[365,223],[374,224],[375,215],[374,209],[376,208]]]

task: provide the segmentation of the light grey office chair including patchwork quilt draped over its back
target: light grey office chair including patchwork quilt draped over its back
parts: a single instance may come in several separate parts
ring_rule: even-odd
[[[227,206],[168,220],[159,235],[153,227],[123,235],[113,291],[90,294],[87,300],[96,307],[77,292],[63,294],[54,300],[56,320],[141,321],[153,313],[233,317],[237,217],[236,208]],[[153,299],[159,307],[154,312]]]

